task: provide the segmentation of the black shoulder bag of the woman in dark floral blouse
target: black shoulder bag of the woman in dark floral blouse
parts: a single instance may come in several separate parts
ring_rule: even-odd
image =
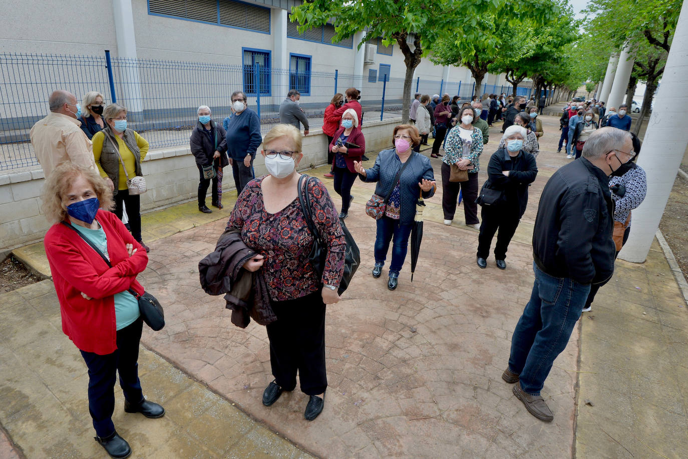
[[[311,179],[313,179],[313,177],[308,177],[308,175],[301,175],[299,178],[299,203],[301,204],[301,209],[303,209],[303,215],[308,224],[308,229],[313,235],[313,246],[308,254],[308,259],[315,273],[319,277],[322,277],[325,271],[325,260],[327,259],[327,246],[313,224],[313,219],[311,217],[310,194],[308,193],[308,182],[310,182]],[[305,193],[303,192],[303,182],[305,182]],[[356,269],[358,269],[358,265],[361,264],[361,251],[358,250],[356,241],[354,241],[354,237],[351,235],[349,228],[346,227],[344,220],[340,218],[339,224],[341,224],[342,230],[344,231],[344,239],[346,242],[344,252],[344,274],[337,290],[338,294],[341,295],[349,287],[351,279],[354,277]]]

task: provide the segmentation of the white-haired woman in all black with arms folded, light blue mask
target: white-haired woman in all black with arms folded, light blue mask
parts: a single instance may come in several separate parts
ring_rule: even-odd
[[[499,142],[505,147],[495,151],[487,166],[488,178],[477,198],[482,206],[476,257],[480,268],[487,267],[492,238],[498,230],[495,264],[506,269],[506,249],[526,211],[528,186],[537,176],[535,156],[524,149],[526,136],[524,127],[507,127]]]

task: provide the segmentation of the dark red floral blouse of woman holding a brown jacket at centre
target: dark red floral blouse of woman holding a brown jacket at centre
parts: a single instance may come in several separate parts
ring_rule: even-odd
[[[318,279],[308,260],[313,235],[299,198],[277,213],[268,213],[263,205],[263,179],[256,178],[246,184],[230,214],[227,229],[239,229],[244,244],[265,257],[261,269],[270,299],[286,301],[305,297],[323,284],[338,286],[344,273],[344,232],[325,185],[311,180],[308,187],[314,226],[327,246],[325,271],[322,279]]]

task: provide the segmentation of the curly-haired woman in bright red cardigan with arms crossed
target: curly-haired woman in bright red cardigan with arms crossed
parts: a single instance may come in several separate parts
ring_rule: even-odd
[[[165,410],[144,398],[138,378],[142,319],[131,292],[144,293],[136,275],[146,268],[148,255],[108,211],[113,206],[112,191],[100,175],[71,162],[58,166],[45,182],[43,211],[54,222],[45,235],[45,253],[60,302],[62,330],[88,367],[96,441],[111,457],[125,458],[131,448],[112,423],[116,372],[125,412],[160,418]]]

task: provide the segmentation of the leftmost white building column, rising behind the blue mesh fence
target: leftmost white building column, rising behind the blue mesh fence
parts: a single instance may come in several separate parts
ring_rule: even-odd
[[[131,0],[112,0],[112,12],[115,21],[117,55],[127,59],[136,59],[136,34],[133,27]],[[136,120],[136,114],[143,111],[141,85],[136,61],[120,63],[120,74],[123,81],[118,81],[122,91],[116,94],[117,102],[127,107],[127,111]]]

